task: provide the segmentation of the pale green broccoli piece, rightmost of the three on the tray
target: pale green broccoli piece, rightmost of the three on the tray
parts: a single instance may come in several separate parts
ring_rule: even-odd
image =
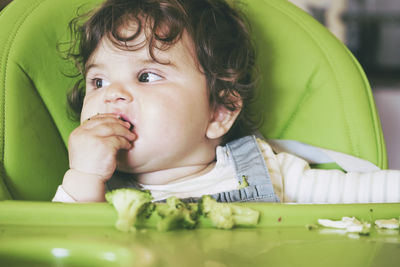
[[[234,226],[254,226],[258,223],[260,212],[238,205],[218,203],[210,196],[203,196],[199,203],[202,214],[210,218],[214,226],[231,229]]]

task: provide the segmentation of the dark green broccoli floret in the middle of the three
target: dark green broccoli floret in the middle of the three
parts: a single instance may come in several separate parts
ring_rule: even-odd
[[[157,230],[165,232],[172,229],[193,229],[197,224],[197,206],[190,206],[177,197],[167,198],[165,205],[157,205],[156,211],[161,217]]]

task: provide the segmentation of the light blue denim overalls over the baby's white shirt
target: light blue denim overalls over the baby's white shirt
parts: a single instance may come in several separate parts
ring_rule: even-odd
[[[274,192],[268,168],[255,136],[245,136],[231,141],[226,144],[225,148],[228,158],[234,166],[238,185],[246,186],[213,194],[211,197],[219,202],[280,202],[279,197]],[[117,177],[115,177],[117,179],[113,178],[107,182],[106,187],[108,190],[121,187],[137,188],[132,182],[126,183],[126,178],[124,179],[125,184],[120,183],[121,180]],[[198,200],[199,198],[197,197],[182,199],[182,201],[189,203],[194,203]]]

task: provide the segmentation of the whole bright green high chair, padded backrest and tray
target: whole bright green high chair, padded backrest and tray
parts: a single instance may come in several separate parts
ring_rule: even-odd
[[[101,0],[14,0],[0,13],[0,265],[389,266],[399,236],[350,239],[305,229],[317,218],[399,216],[398,204],[247,204],[255,229],[136,234],[113,228],[106,203],[50,203],[68,169],[66,93],[74,70],[57,44],[77,8]],[[266,138],[297,140],[387,168],[385,144],[363,70],[323,26],[286,0],[246,0],[258,53],[254,110]],[[147,229],[147,228],[148,229]],[[371,240],[373,242],[371,242]],[[385,250],[387,248],[387,250]],[[357,256],[355,256],[357,255]],[[289,257],[288,257],[289,256]],[[2,264],[4,263],[4,264]],[[36,265],[35,265],[36,264]],[[372,266],[371,265],[371,266]],[[18,265],[19,266],[19,265]]]

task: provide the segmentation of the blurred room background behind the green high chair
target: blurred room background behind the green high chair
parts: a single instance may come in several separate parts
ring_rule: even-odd
[[[289,1],[325,25],[361,63],[381,117],[389,168],[400,169],[400,0]],[[0,10],[9,2],[0,0]]]

